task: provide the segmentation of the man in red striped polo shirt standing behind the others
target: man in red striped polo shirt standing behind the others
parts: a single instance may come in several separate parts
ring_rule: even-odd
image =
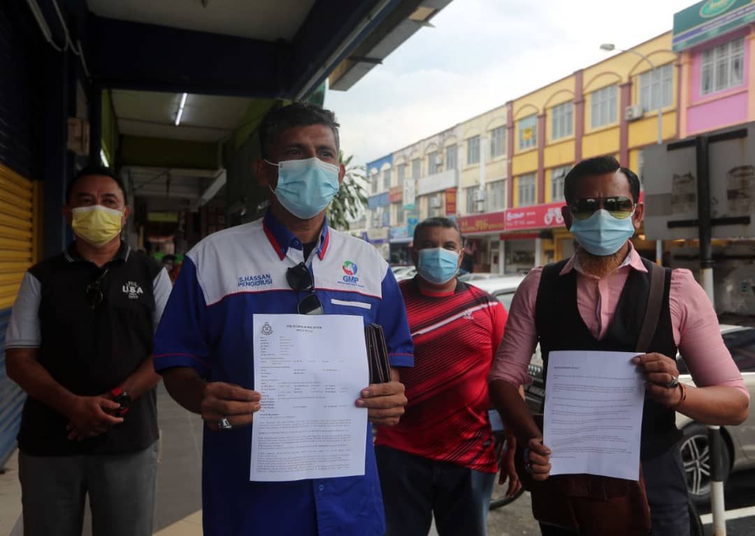
[[[401,369],[408,405],[375,442],[386,534],[426,536],[434,513],[440,536],[484,536],[498,470],[487,375],[507,313],[456,279],[462,238],[453,220],[419,223],[410,252],[418,275],[400,285],[414,340],[414,368]],[[513,461],[507,470],[513,494]]]

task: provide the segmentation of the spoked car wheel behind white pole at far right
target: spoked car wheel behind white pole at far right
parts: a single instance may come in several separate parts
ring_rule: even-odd
[[[687,491],[692,502],[701,506],[710,503],[710,442],[708,429],[704,424],[692,423],[682,430],[684,439],[681,445]],[[729,478],[731,461],[729,447],[723,442],[723,482]]]

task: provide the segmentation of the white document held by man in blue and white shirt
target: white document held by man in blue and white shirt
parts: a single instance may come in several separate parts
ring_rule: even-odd
[[[365,474],[369,371],[361,316],[254,315],[249,479],[284,482]]]

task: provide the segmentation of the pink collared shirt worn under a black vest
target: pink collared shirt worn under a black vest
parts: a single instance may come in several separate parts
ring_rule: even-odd
[[[624,283],[630,270],[647,273],[630,242],[627,258],[608,276],[598,279],[582,272],[577,253],[572,255],[560,275],[577,271],[577,306],[584,324],[597,340],[606,337],[614,319]],[[527,365],[538,344],[535,330],[535,300],[542,267],[527,274],[514,294],[504,339],[495,354],[489,379],[506,380],[510,384],[529,384]],[[695,282],[689,270],[671,272],[669,295],[673,342],[698,387],[726,385],[747,395],[744,381],[729,350],[723,343],[718,317],[703,288]],[[669,356],[674,357],[674,356]]]

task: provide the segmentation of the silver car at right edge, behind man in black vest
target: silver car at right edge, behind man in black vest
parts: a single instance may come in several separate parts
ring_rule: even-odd
[[[725,324],[720,327],[723,342],[742,373],[750,399],[755,399],[755,328]],[[680,380],[694,385],[684,364],[684,356],[679,356],[677,367],[683,373]],[[697,504],[708,503],[711,461],[707,427],[679,413],[676,414],[676,426],[684,434],[681,448],[689,495]],[[739,426],[721,427],[721,436],[726,445],[723,452],[726,477],[729,473],[755,467],[755,412],[750,411],[750,416]]]

